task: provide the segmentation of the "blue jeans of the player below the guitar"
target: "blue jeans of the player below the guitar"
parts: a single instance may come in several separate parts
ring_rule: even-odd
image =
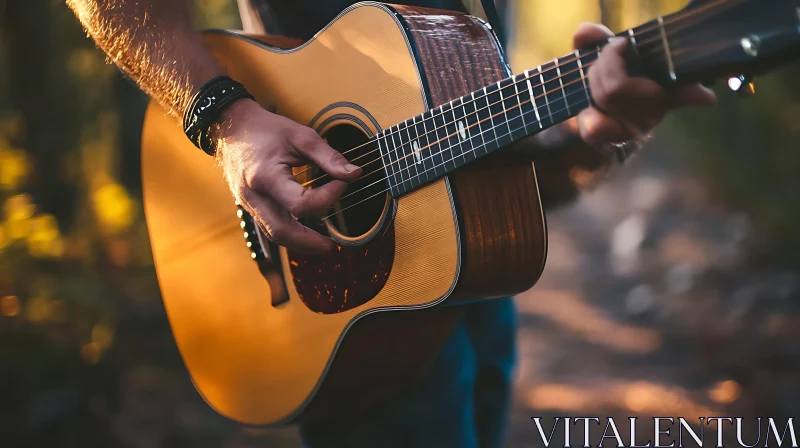
[[[431,370],[352,426],[300,428],[307,448],[499,448],[516,357],[510,297],[467,305]]]

